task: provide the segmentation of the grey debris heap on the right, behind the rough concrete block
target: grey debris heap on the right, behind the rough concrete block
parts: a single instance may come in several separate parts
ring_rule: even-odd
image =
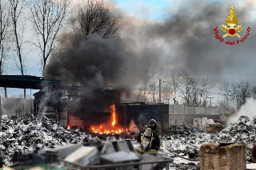
[[[186,130],[188,129],[188,130]],[[173,157],[177,164],[197,164],[196,161],[179,159],[174,153],[190,159],[199,159],[199,148],[206,143],[233,143],[246,146],[247,161],[251,162],[251,148],[256,143],[256,117],[250,120],[248,117],[239,117],[238,121],[228,125],[219,133],[194,133],[191,128],[183,128],[185,132],[162,137],[162,144],[169,148],[161,147],[159,153],[165,157]],[[180,168],[177,168],[180,169]]]

